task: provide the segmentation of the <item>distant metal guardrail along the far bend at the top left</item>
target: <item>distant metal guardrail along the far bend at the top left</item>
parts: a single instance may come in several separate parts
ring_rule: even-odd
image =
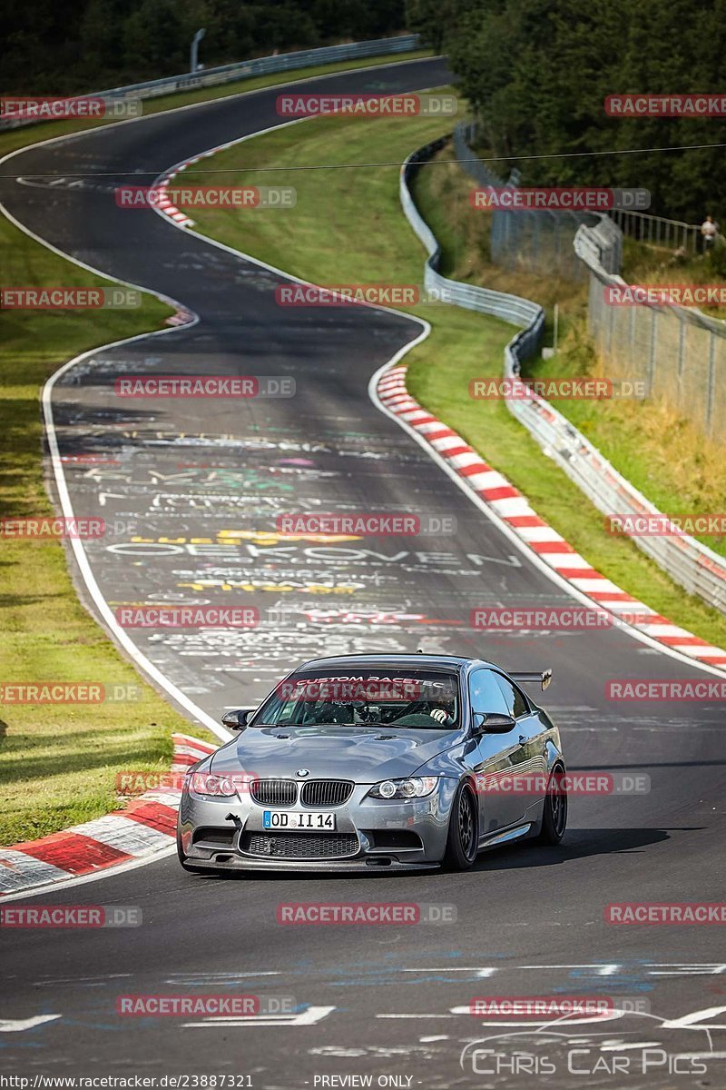
[[[318,49],[302,49],[294,53],[279,53],[276,57],[257,57],[249,61],[236,61],[219,68],[187,72],[183,75],[162,76],[146,83],[132,83],[125,87],[108,90],[86,92],[83,95],[67,95],[66,98],[103,98],[109,101],[156,98],[175,90],[192,90],[196,87],[213,87],[270,72],[287,72],[310,64],[331,64],[335,61],[355,60],[360,57],[380,57],[384,53],[404,53],[417,49],[420,35],[405,34],[395,38],[373,38],[370,41],[350,41],[342,46],[321,46]],[[0,119],[0,129],[15,129],[19,125],[35,124],[35,118]]]

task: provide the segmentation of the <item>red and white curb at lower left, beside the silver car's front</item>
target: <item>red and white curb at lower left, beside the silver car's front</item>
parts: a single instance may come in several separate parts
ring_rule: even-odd
[[[173,740],[171,772],[176,773],[185,772],[217,748],[188,735],[174,735]],[[155,787],[134,798],[125,810],[38,840],[0,848],[0,897],[90,874],[168,848],[176,835],[181,796],[180,788]]]

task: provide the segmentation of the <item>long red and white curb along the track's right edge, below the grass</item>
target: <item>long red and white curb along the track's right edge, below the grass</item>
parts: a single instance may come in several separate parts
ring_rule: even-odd
[[[564,537],[549,526],[529,501],[502,473],[482,461],[481,456],[460,435],[447,427],[415,401],[406,389],[406,364],[383,372],[378,397],[389,412],[399,416],[456,471],[468,487],[502,519],[528,548],[559,577],[598,606],[624,619],[631,627],[672,651],[709,666],[726,666],[726,651],[714,647],[667,617],[651,609],[611,582],[576,553]],[[630,620],[635,616],[637,620]]]

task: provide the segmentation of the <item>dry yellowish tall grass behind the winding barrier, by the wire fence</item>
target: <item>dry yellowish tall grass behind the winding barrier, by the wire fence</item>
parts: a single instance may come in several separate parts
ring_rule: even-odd
[[[419,206],[442,244],[442,271],[456,280],[508,291],[540,303],[547,324],[543,343],[553,339],[554,304],[559,306],[559,351],[551,360],[527,362],[531,378],[606,377],[587,329],[587,284],[538,274],[533,269],[504,269],[489,255],[491,214],[473,210],[468,202],[471,180],[444,148],[436,164],[419,174]],[[631,282],[717,281],[704,271],[703,258],[682,269],[664,271],[653,247],[626,240],[624,275]],[[723,510],[726,496],[726,458],[723,437],[713,441],[677,411],[656,400],[557,401],[570,420],[613,465],[661,510],[668,513]],[[664,443],[663,437],[668,436]],[[526,489],[524,489],[526,491]],[[714,552],[726,556],[726,540],[701,536]]]

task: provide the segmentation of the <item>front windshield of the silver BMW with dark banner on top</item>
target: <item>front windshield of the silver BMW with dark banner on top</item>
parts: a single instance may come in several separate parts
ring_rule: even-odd
[[[450,730],[458,726],[458,682],[438,670],[361,669],[295,674],[281,681],[251,724],[384,726]]]

